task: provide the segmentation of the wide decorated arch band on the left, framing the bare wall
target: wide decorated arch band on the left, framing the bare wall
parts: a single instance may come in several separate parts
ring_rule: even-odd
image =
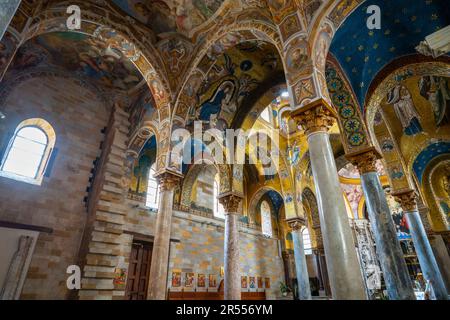
[[[69,30],[66,25],[68,5],[83,8],[80,30]],[[108,19],[105,19],[108,17]],[[75,1],[56,3],[42,10],[33,20],[23,35],[22,43],[46,33],[75,32],[90,36],[102,42],[108,50],[121,52],[136,67],[150,89],[160,113],[158,131],[159,154],[157,159],[158,174],[169,167],[170,160],[170,119],[172,92],[165,76],[164,63],[158,50],[147,39],[146,33],[127,23],[127,19],[118,15],[105,3],[99,6],[93,3]]]

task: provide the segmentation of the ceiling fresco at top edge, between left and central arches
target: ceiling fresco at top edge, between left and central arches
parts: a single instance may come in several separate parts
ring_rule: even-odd
[[[223,0],[113,0],[122,11],[156,34],[189,33],[211,18]]]

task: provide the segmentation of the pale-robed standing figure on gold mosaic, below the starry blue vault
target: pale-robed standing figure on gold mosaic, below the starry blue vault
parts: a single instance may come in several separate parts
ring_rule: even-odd
[[[405,135],[414,136],[423,131],[419,113],[407,87],[401,84],[395,86],[388,94],[387,103],[393,106]]]

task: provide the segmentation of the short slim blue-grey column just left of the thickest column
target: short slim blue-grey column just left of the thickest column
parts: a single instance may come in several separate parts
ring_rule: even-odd
[[[305,246],[302,230],[305,228],[305,220],[295,218],[287,221],[292,228],[294,240],[295,273],[297,275],[299,300],[311,300],[311,287],[309,285],[308,266],[306,264]]]

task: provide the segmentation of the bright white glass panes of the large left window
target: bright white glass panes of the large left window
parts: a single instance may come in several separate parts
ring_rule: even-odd
[[[36,127],[20,129],[8,150],[2,171],[36,179],[47,143],[47,136],[41,129]]]

